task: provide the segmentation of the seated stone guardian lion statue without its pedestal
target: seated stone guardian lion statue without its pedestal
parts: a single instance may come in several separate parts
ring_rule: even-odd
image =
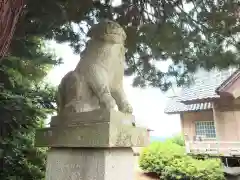
[[[99,108],[132,113],[123,90],[126,34],[113,21],[92,27],[91,38],[75,70],[67,73],[57,93],[58,113],[86,112]]]

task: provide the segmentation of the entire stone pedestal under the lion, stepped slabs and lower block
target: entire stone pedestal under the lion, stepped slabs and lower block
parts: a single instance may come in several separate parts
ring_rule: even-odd
[[[101,109],[53,117],[36,132],[36,146],[50,147],[46,180],[133,180],[132,147],[149,141],[133,118]]]

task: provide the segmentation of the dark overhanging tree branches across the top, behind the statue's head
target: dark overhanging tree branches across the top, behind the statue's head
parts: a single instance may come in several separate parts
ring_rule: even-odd
[[[238,12],[237,0],[122,0],[119,6],[110,0],[27,0],[11,48],[29,48],[21,37],[37,35],[69,42],[79,53],[86,40],[83,27],[113,19],[128,35],[126,75],[135,76],[133,85],[167,90],[188,82],[199,66],[238,66]],[[167,72],[156,67],[167,60],[172,61]]]

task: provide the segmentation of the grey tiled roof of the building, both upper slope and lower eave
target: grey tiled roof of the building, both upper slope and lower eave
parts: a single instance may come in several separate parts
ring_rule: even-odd
[[[187,111],[198,111],[212,109],[211,102],[202,102],[195,104],[184,104],[186,101],[198,100],[198,99],[209,99],[218,98],[216,89],[230,77],[236,69],[229,70],[212,70],[210,72],[200,69],[194,75],[194,84],[190,87],[184,87],[178,97],[170,98],[165,113],[173,114]]]

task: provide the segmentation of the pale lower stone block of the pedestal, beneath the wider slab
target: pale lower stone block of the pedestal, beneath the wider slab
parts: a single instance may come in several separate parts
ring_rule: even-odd
[[[131,148],[51,148],[46,180],[133,180]]]

